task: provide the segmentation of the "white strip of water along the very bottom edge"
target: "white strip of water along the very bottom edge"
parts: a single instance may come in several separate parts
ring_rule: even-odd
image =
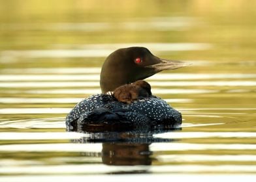
[[[246,167],[246,166],[245,166]],[[231,166],[232,168],[232,166]],[[172,181],[254,181],[256,179],[255,174],[121,174],[121,175],[12,175],[12,176],[1,176],[1,179],[5,182],[17,182],[17,181],[26,181],[26,182],[42,182],[42,181],[104,181],[104,182],[115,182],[115,181],[167,181],[172,179]]]

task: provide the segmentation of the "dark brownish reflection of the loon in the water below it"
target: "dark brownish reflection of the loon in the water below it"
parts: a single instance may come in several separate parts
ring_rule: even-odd
[[[154,137],[155,133],[180,130],[181,128],[158,129],[157,131],[125,131],[90,133],[89,137],[72,140],[72,142],[102,142],[101,158],[103,164],[114,166],[151,165],[152,142],[172,142],[171,138]],[[92,153],[89,153],[91,155]],[[142,172],[142,171],[140,171]],[[146,172],[146,171],[144,171]]]

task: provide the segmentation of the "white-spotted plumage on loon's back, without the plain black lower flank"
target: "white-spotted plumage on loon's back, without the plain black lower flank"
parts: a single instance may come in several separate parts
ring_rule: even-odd
[[[74,125],[86,124],[88,117],[95,109],[107,109],[113,113],[121,113],[122,119],[142,127],[143,125],[158,125],[161,123],[180,124],[182,115],[172,109],[166,101],[161,98],[144,98],[133,101],[131,104],[121,103],[110,94],[96,94],[89,96],[69,112],[66,118],[67,131],[72,131]],[[119,115],[118,114],[118,115]]]

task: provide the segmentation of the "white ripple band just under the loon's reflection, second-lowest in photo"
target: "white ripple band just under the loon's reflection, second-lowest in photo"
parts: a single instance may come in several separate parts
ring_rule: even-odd
[[[78,167],[79,166],[79,167]],[[254,165],[163,165],[163,166],[108,166],[104,164],[65,164],[48,166],[11,166],[0,168],[0,174],[106,174],[113,172],[146,171],[150,173],[174,172],[256,172]]]

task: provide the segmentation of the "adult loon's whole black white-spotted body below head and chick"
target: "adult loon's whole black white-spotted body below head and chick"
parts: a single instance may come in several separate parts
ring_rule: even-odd
[[[106,130],[150,129],[155,125],[178,125],[182,115],[161,98],[144,98],[125,104],[112,95],[97,94],[78,103],[67,115],[67,131],[102,127]]]

